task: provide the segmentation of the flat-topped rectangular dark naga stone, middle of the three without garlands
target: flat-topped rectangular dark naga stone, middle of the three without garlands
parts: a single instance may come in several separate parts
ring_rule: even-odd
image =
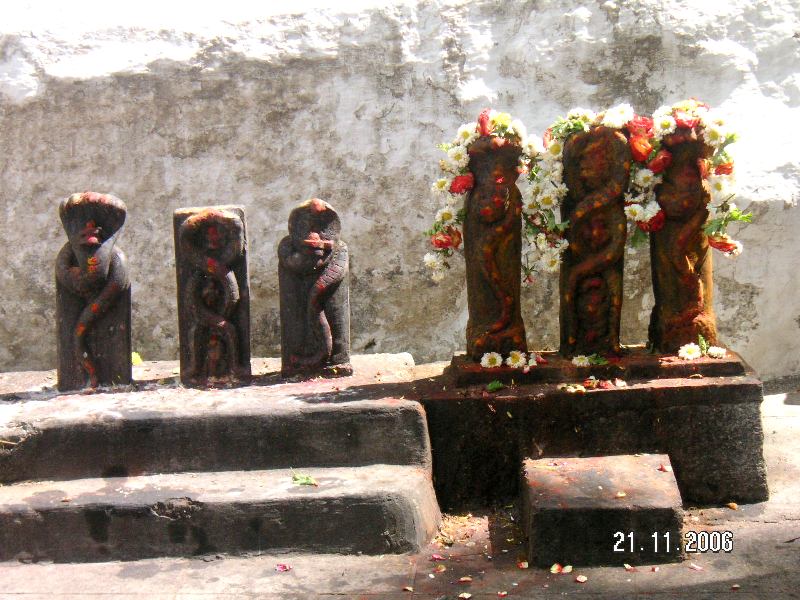
[[[173,215],[181,381],[250,378],[247,236],[239,206],[181,208]]]

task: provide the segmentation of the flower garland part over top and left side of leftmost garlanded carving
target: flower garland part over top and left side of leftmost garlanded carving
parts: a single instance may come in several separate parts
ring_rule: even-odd
[[[475,185],[475,178],[469,171],[469,146],[481,136],[498,137],[523,148],[520,156],[520,170],[527,171],[530,156],[525,125],[510,114],[484,109],[473,123],[458,128],[455,139],[450,143],[439,144],[438,148],[447,156],[439,161],[442,176],[431,186],[431,191],[441,202],[433,226],[425,232],[429,236],[433,251],[423,258],[425,266],[431,271],[434,281],[441,281],[447,269],[448,259],[459,250],[463,241],[465,217],[464,198]]]

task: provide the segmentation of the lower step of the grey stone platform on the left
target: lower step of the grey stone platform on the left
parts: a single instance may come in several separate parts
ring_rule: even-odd
[[[421,467],[308,468],[0,486],[0,560],[93,562],[299,550],[402,553],[440,520]]]

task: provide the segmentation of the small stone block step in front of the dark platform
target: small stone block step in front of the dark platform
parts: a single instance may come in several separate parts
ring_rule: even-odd
[[[528,559],[549,567],[681,560],[683,510],[666,454],[527,459]]]

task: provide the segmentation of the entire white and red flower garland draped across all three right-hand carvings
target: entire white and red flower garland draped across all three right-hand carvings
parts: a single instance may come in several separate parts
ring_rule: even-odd
[[[652,117],[637,115],[630,104],[619,104],[601,113],[574,108],[566,117],[551,125],[543,138],[527,135],[521,121],[508,113],[485,109],[477,122],[458,128],[451,143],[438,147],[446,152],[439,161],[442,177],[431,186],[441,200],[433,226],[426,231],[433,251],[423,262],[434,281],[441,281],[448,259],[460,249],[463,241],[463,201],[475,184],[469,171],[469,145],[478,137],[501,137],[522,147],[520,172],[528,174],[528,190],[523,191],[522,206],[522,282],[531,284],[537,271],[555,272],[568,243],[565,231],[568,221],[559,219],[559,207],[568,189],[563,181],[563,150],[574,133],[589,131],[593,126],[618,129],[626,134],[633,162],[628,189],[625,191],[625,215],[631,222],[628,241],[638,246],[651,231],[659,231],[666,221],[655,197],[661,173],[672,163],[672,154],[662,146],[665,136],[678,128],[692,130],[714,149],[710,159],[700,165],[701,175],[711,190],[709,218],[703,226],[708,243],[725,256],[737,256],[742,244],[732,239],[727,227],[734,221],[750,222],[751,213],[744,213],[732,202],[734,197],[733,159],[727,147],[736,141],[736,134],[708,105],[698,100],[685,100],[662,106]],[[523,180],[524,181],[524,180]]]

